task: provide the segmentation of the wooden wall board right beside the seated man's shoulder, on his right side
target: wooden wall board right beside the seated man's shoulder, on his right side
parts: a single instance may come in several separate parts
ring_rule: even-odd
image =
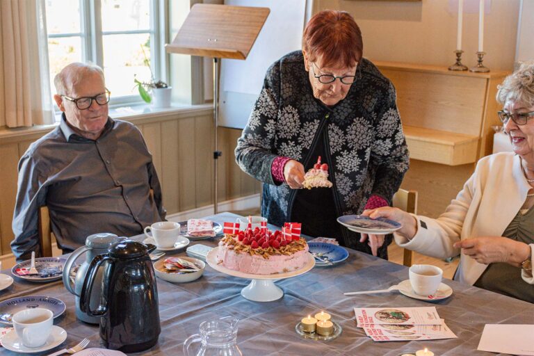
[[[161,165],[162,172],[158,172],[163,189],[163,206],[168,214],[177,213],[179,209],[179,184],[181,169],[179,166],[179,134],[178,121],[161,123]]]

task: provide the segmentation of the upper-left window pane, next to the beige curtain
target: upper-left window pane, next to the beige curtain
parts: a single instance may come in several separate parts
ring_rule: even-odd
[[[56,33],[80,33],[79,0],[47,0],[47,31]]]

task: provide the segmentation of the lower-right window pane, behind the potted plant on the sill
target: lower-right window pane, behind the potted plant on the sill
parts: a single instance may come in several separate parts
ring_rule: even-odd
[[[133,78],[136,77],[140,81],[151,79],[150,69],[145,65],[143,56],[144,49],[147,59],[150,60],[150,34],[105,35],[102,42],[106,86],[111,91],[112,98],[137,95]]]

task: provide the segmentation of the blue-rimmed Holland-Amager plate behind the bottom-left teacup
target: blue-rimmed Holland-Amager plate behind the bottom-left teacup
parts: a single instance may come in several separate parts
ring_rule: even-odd
[[[0,302],[0,323],[11,324],[13,314],[24,309],[44,308],[54,313],[57,318],[65,312],[66,306],[63,300],[46,296],[16,297]]]

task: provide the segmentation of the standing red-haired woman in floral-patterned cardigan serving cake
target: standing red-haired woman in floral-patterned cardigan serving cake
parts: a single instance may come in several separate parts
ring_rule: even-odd
[[[337,217],[387,206],[408,169],[395,88],[362,57],[362,33],[344,11],[310,19],[302,51],[277,60],[238,139],[236,161],[263,181],[262,216],[387,259],[387,244],[341,228]],[[318,156],[333,187],[301,190]]]

